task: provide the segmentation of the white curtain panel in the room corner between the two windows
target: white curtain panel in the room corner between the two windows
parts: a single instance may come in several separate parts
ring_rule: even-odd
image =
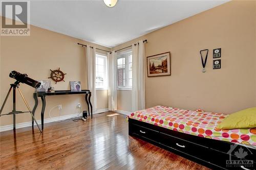
[[[108,53],[109,72],[109,110],[117,110],[117,54],[113,51]]]

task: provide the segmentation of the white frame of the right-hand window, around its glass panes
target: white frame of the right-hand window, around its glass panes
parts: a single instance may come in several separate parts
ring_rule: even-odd
[[[117,54],[117,59],[123,58],[122,55],[129,54],[129,53],[132,53],[132,49],[119,52]],[[118,86],[118,79],[117,79],[117,90],[132,90],[132,86],[128,85],[129,84],[129,79],[130,79],[130,77],[129,77],[129,59],[128,59],[128,55],[125,56],[125,74],[126,74],[125,82],[127,83],[127,85],[126,86]],[[118,76],[118,72],[117,72],[117,76]]]

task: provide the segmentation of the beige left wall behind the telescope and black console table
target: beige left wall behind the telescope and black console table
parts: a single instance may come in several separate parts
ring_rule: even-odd
[[[70,81],[81,81],[82,89],[87,89],[85,48],[77,45],[77,42],[95,45],[98,48],[108,51],[110,50],[103,46],[34,26],[31,26],[30,36],[1,37],[1,105],[4,102],[4,96],[9,89],[9,84],[15,81],[14,79],[9,78],[9,73],[12,70],[27,73],[29,77],[36,80],[50,80],[48,79],[50,75],[49,69],[57,69],[60,67],[60,69],[67,73],[67,75],[65,76],[65,82],[58,82],[55,84],[51,81],[55,90],[69,90]],[[24,95],[32,108],[34,105],[34,89],[24,84],[20,85],[20,89],[24,92]],[[12,110],[11,99],[12,98],[9,99],[3,111],[4,113]],[[97,91],[97,99],[99,109],[108,108],[107,90]],[[87,110],[83,95],[47,96],[45,118],[49,118],[50,111],[52,117],[59,116],[59,114],[67,115],[77,113],[78,110],[76,106],[78,102],[81,103],[82,110]],[[60,104],[62,105],[61,112],[55,107]],[[36,119],[40,119],[40,108],[41,102],[39,101],[35,113]],[[17,110],[26,110],[19,94],[17,94]],[[29,122],[31,120],[29,113],[20,114],[16,117],[16,123]],[[10,124],[12,124],[12,116],[1,116],[0,126]]]

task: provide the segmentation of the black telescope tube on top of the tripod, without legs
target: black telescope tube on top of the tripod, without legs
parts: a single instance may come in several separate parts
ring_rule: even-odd
[[[18,71],[13,70],[10,72],[10,78],[16,79],[19,83],[25,83],[33,88],[40,87],[41,83],[28,77],[27,74],[21,74]]]

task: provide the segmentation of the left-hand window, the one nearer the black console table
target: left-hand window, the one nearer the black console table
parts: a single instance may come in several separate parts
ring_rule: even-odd
[[[106,56],[96,54],[96,89],[108,88],[108,77],[106,76]]]

